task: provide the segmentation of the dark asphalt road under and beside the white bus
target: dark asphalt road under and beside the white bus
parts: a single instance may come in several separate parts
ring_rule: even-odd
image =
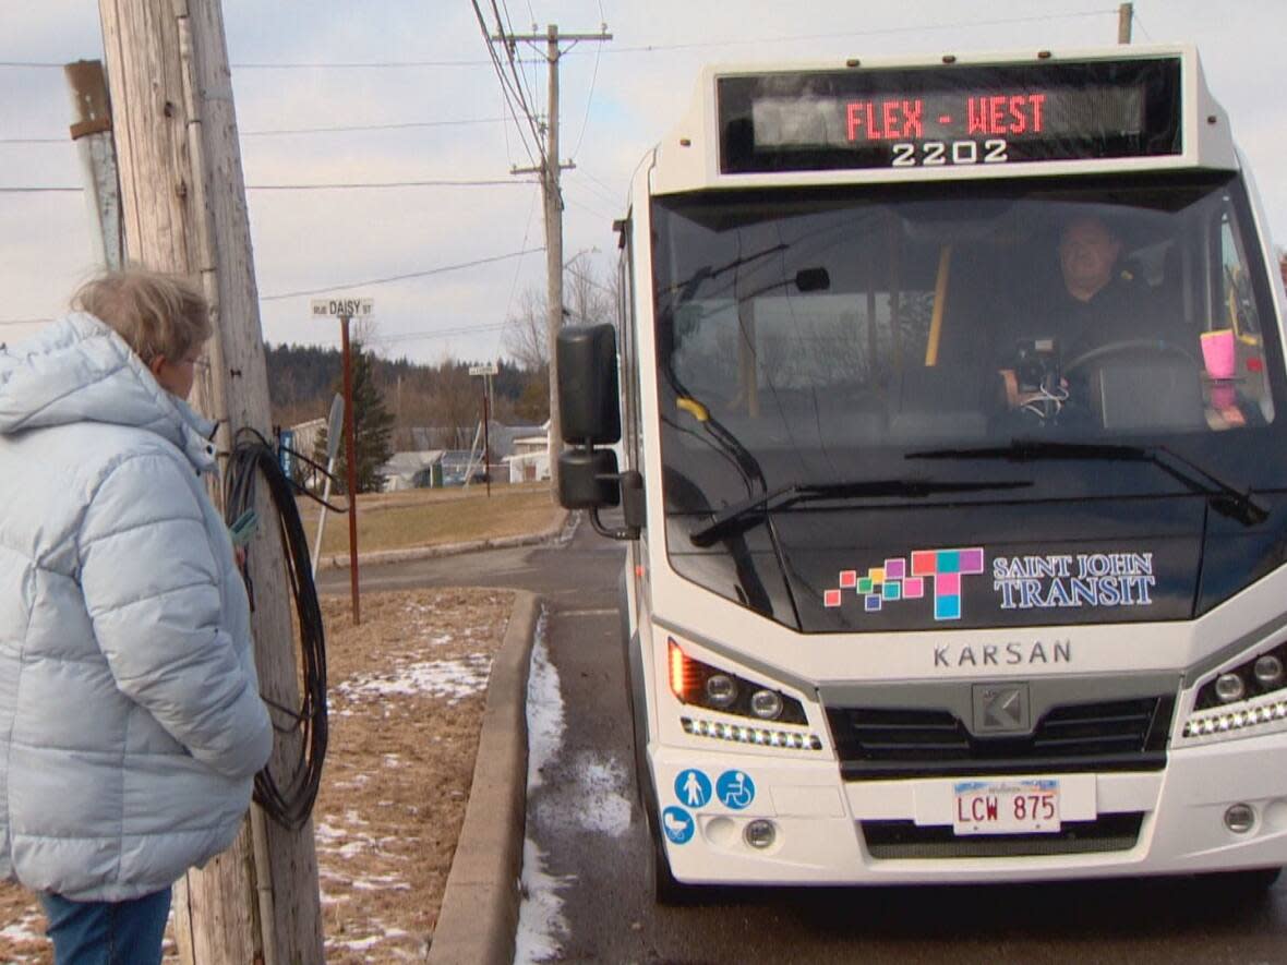
[[[562,547],[493,549],[364,571],[363,587],[501,585],[547,605],[564,744],[528,800],[528,835],[561,879],[560,961],[1287,962],[1287,880],[1265,894],[1221,879],[1013,887],[723,889],[665,908],[645,892],[616,643],[620,544],[582,526]],[[347,591],[347,573],[323,575]],[[587,775],[622,820],[578,811]],[[628,802],[628,804],[625,803]],[[595,818],[595,820],[587,820]],[[1284,876],[1287,879],[1287,876]]]

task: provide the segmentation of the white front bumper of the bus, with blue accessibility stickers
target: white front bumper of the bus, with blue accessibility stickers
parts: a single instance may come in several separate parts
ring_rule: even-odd
[[[934,829],[937,836],[951,838],[951,777],[846,782],[834,759],[667,746],[651,748],[650,762],[662,826],[669,809],[671,827],[680,829],[667,840],[671,870],[691,884],[945,884],[1287,865],[1287,735],[1282,733],[1172,749],[1162,771],[1049,775],[1060,782],[1066,823],[1139,816],[1130,840],[1118,835],[1112,849],[1091,853],[1017,854],[1024,841],[1040,848],[1040,839],[1049,836],[1013,835],[987,857],[952,854],[950,847],[920,849],[924,857],[882,857],[869,847],[864,822]],[[705,784],[690,777],[692,772],[705,776]],[[739,794],[731,796],[728,789],[735,786]],[[1224,825],[1224,812],[1236,803],[1255,809],[1255,823],[1243,834]],[[752,848],[743,835],[757,818],[776,826],[766,849]],[[687,832],[685,820],[691,821]]]

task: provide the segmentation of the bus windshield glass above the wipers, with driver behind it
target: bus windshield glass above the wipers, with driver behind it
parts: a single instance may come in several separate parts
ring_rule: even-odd
[[[1278,431],[1237,175],[700,192],[654,198],[653,228],[672,511],[945,448],[1219,462]]]

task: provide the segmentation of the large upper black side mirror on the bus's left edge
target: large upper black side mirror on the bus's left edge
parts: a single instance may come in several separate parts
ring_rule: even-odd
[[[606,322],[568,326],[559,332],[557,353],[559,425],[564,441],[573,445],[620,441],[616,329]]]

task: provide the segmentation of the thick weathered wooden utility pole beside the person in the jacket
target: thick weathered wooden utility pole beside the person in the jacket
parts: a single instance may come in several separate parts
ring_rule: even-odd
[[[201,279],[215,333],[193,404],[220,421],[227,452],[241,427],[269,435],[268,371],[219,0],[99,0],[129,256]],[[266,486],[256,511],[270,519]],[[250,546],[260,690],[299,706],[284,561],[275,526]],[[278,724],[270,767],[286,785],[300,733]],[[247,830],[248,829],[248,830]],[[175,894],[176,939],[192,965],[324,960],[313,823],[287,831],[252,808],[237,843]]]

